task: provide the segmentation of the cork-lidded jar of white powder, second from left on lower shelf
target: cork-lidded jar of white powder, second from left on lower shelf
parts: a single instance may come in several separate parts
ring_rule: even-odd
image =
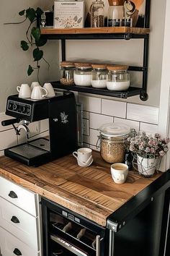
[[[91,86],[91,64],[75,63],[76,69],[73,72],[75,85]]]

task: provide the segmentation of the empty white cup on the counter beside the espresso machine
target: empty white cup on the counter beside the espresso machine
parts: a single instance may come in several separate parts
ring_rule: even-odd
[[[79,150],[73,152],[73,156],[77,159],[79,166],[87,167],[93,162],[91,148],[79,148]]]

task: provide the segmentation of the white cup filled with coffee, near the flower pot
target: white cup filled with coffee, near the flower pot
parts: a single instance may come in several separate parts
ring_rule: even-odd
[[[128,166],[125,163],[112,163],[111,175],[115,183],[124,183],[128,176]]]

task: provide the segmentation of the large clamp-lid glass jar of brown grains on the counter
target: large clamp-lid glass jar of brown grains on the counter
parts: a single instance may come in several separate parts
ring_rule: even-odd
[[[107,163],[125,161],[125,141],[130,127],[125,124],[108,123],[99,127],[100,155]]]

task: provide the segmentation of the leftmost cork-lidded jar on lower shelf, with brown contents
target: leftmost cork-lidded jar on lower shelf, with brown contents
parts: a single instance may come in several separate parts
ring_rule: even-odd
[[[71,61],[61,62],[61,84],[62,85],[73,85],[73,71],[75,66]]]

